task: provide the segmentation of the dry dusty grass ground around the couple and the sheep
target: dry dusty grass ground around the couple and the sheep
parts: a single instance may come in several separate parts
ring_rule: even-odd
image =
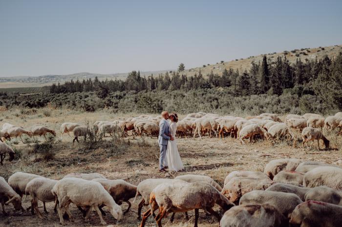
[[[48,112],[48,113],[47,113]],[[51,116],[44,116],[51,114]],[[341,158],[342,137],[328,136],[331,140],[331,146],[339,148],[330,151],[318,151],[317,143],[311,150],[303,151],[301,148],[293,148],[291,144],[286,142],[276,143],[272,145],[269,141],[258,141],[254,144],[241,145],[239,141],[232,138],[219,140],[217,138],[204,139],[199,138],[177,138],[178,149],[185,165],[186,170],[178,173],[160,173],[158,172],[158,155],[157,139],[145,137],[135,138],[128,137],[120,145],[113,145],[110,142],[102,145],[85,144],[71,147],[72,139],[65,136],[60,139],[61,133],[59,128],[63,122],[94,122],[95,120],[108,119],[124,119],[128,116],[137,114],[111,114],[106,110],[97,113],[78,113],[69,110],[38,110],[37,113],[31,115],[22,115],[20,110],[11,110],[0,113],[0,126],[2,123],[8,122],[15,125],[29,128],[33,125],[45,125],[54,128],[57,132],[57,138],[54,142],[55,157],[51,161],[44,161],[39,158],[38,154],[31,153],[33,143],[28,141],[27,144],[18,144],[11,146],[21,151],[22,157],[19,160],[8,162],[7,157],[4,165],[0,167],[0,176],[7,178],[16,171],[25,171],[43,175],[45,177],[60,179],[70,172],[99,172],[104,174],[108,179],[124,179],[132,184],[138,184],[146,178],[173,178],[179,174],[204,174],[216,180],[221,186],[225,176],[233,170],[254,170],[262,171],[265,164],[277,158],[302,158],[306,160],[323,161],[334,163]],[[43,138],[40,138],[43,141]],[[18,140],[19,141],[19,140]],[[80,140],[81,141],[81,140]],[[129,142],[128,142],[129,141]],[[323,145],[322,145],[323,147]],[[133,199],[132,199],[133,200]],[[132,201],[131,200],[131,201]],[[140,200],[140,198],[139,198]],[[24,208],[30,206],[30,198],[26,199],[23,204]],[[104,217],[107,224],[112,226],[138,226],[137,220],[137,202],[120,222],[117,222],[109,212]],[[82,215],[78,209],[71,205],[74,222],[66,222],[67,226],[99,226],[100,221],[95,212],[92,213],[90,221],[87,223],[82,219]],[[126,209],[126,205],[122,205]],[[60,226],[57,214],[53,212],[53,203],[47,204],[50,212],[45,218],[40,220],[36,215],[31,216],[29,211],[24,213],[13,211],[13,207],[7,206],[11,216],[4,216],[0,213],[0,226],[21,227],[21,226]],[[43,204],[40,203],[40,209],[43,212]],[[215,209],[218,209],[215,208]],[[143,208],[143,211],[146,208]],[[190,220],[187,221],[182,214],[177,214],[174,223],[171,224],[169,219],[163,220],[164,226],[193,226],[194,213],[190,212]],[[149,218],[147,226],[155,226],[152,218]],[[199,226],[201,227],[217,227],[218,223],[212,216],[207,216],[200,212]]]

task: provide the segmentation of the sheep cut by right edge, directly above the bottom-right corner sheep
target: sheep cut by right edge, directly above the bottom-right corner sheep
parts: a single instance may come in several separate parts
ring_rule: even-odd
[[[319,186],[309,189],[305,194],[305,201],[315,200],[325,203],[342,205],[342,191],[326,186]]]

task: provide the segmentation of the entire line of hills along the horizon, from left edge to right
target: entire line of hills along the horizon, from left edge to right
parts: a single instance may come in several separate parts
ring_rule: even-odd
[[[297,59],[305,61],[305,59],[315,60],[321,59],[325,55],[328,57],[336,57],[340,52],[342,52],[342,45],[327,46],[327,47],[317,47],[317,48],[302,48],[296,50],[287,50],[280,53],[269,53],[262,54],[258,56],[250,56],[247,58],[235,59],[232,61],[217,62],[213,65],[203,65],[202,67],[196,67],[192,69],[187,69],[183,72],[187,76],[193,76],[201,71],[202,75],[206,76],[212,71],[214,74],[221,75],[224,69],[232,68],[234,70],[239,69],[240,71],[248,70],[251,67],[252,62],[261,62],[262,57],[266,55],[269,63],[275,61],[278,56],[285,57],[290,61],[290,63],[295,63]],[[185,62],[186,65],[186,62]],[[162,71],[150,71],[150,72],[140,72],[141,76],[150,76],[164,74],[170,70]],[[105,79],[125,79],[128,73],[118,73],[118,74],[93,74],[93,73],[76,73],[70,75],[44,75],[44,76],[15,76],[15,77],[0,77],[0,89],[3,88],[22,88],[22,87],[43,87],[51,85],[52,83],[63,83],[68,80],[77,79],[88,79],[98,77],[100,80]]]

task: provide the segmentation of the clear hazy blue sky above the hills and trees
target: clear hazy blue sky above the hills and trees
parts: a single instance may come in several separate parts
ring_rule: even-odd
[[[213,64],[342,43],[342,0],[0,0],[0,76]]]

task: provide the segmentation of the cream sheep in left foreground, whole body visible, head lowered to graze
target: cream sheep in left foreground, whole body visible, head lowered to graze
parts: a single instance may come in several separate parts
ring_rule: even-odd
[[[121,207],[115,203],[99,182],[74,177],[63,178],[55,184],[51,192],[57,197],[57,211],[62,225],[64,225],[62,210],[65,210],[69,218],[72,219],[69,211],[70,203],[88,208],[85,220],[88,220],[91,208],[94,208],[100,217],[101,225],[107,225],[107,223],[102,218],[99,206],[107,206],[115,219],[121,220],[122,218]]]

